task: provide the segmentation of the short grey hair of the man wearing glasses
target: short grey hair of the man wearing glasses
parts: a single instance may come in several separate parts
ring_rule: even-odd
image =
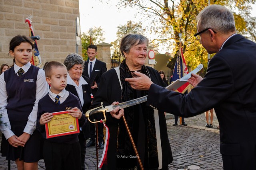
[[[198,30],[211,28],[221,33],[236,31],[234,16],[230,10],[222,5],[210,5],[204,8],[196,17]]]

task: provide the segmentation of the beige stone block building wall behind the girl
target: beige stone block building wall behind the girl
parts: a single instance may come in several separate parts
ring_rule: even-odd
[[[0,0],[0,64],[12,64],[8,56],[10,39],[29,35],[26,18],[32,15],[32,26],[42,62],[63,62],[69,53],[76,53],[76,17],[78,0]],[[82,55],[82,48],[78,46]]]

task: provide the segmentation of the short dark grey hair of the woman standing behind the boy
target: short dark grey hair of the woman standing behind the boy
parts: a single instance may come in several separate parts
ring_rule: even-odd
[[[70,70],[75,64],[82,64],[84,68],[83,58],[77,53],[71,53],[64,60],[64,65],[67,67],[67,70]]]

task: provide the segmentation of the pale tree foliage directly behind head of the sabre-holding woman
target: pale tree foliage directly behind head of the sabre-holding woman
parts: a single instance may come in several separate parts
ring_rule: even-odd
[[[111,42],[110,44],[113,45],[114,50],[118,50],[120,47],[120,40],[122,37],[126,34],[129,33],[138,33],[138,34],[144,34],[145,29],[142,28],[142,23],[138,22],[132,22],[132,21],[127,21],[125,25],[119,25],[118,30],[116,32],[116,37],[117,39],[114,42]]]

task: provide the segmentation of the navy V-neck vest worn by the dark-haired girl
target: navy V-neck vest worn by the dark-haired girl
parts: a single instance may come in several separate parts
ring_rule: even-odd
[[[7,92],[7,113],[10,121],[27,121],[36,101],[36,80],[39,68],[31,65],[22,76],[14,67],[4,72]]]

